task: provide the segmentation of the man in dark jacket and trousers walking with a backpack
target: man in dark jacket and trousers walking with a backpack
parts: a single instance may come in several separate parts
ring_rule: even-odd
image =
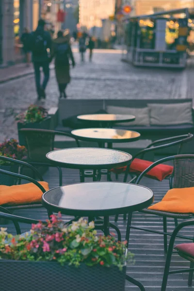
[[[38,27],[31,35],[32,62],[34,66],[36,90],[38,99],[46,98],[45,89],[49,81],[49,55],[51,49],[50,33],[45,31],[45,21],[40,19]],[[40,67],[43,69],[44,80],[40,83]]]

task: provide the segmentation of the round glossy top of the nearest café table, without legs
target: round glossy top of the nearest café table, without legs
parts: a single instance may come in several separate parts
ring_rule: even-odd
[[[126,209],[136,211],[148,207],[153,201],[150,189],[121,182],[87,182],[66,185],[51,189],[43,194],[43,202],[66,210],[74,215],[74,211],[114,213],[113,210]],[[68,211],[69,210],[69,211]],[[72,211],[73,210],[73,211]],[[65,211],[64,211],[65,213]]]

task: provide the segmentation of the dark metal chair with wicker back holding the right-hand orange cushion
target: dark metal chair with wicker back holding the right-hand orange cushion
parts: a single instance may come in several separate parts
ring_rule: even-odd
[[[174,172],[173,172],[173,179],[172,179],[173,187],[172,188],[194,187],[194,155],[193,154],[175,155],[175,156],[167,157],[157,162],[154,162],[137,178],[136,184],[139,184],[141,179],[145,177],[146,173],[149,172],[152,168],[154,168],[160,163],[168,162],[172,160],[174,160]],[[144,210],[141,210],[140,212],[162,216],[163,217],[163,232],[148,229],[148,228],[143,228],[143,227],[131,226],[132,216],[131,214],[129,214],[128,224],[127,224],[128,234],[127,234],[126,240],[129,241],[130,228],[144,230],[144,231],[148,231],[152,233],[159,233],[163,235],[165,253],[167,253],[167,236],[172,235],[172,233],[167,233],[167,217],[174,218],[175,226],[178,226],[178,219],[189,219],[189,218],[194,217],[193,214],[172,213],[172,212],[164,212],[164,211],[149,210],[149,209],[144,209]],[[185,237],[185,236],[179,236],[179,237],[185,238],[188,240],[193,240],[193,238],[190,238],[190,237]]]

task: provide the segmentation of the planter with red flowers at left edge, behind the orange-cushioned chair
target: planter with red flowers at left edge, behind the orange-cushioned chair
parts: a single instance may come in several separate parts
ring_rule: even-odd
[[[11,138],[0,144],[0,156],[22,160],[27,156],[27,149],[25,146],[19,146],[18,141]],[[0,169],[18,173],[18,165],[2,160],[0,160]],[[0,174],[0,185],[11,186],[14,185],[14,183],[14,177]]]

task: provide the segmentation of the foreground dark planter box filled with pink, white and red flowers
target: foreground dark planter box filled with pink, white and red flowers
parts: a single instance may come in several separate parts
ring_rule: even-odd
[[[50,217],[24,237],[1,228],[0,284],[10,291],[124,291],[126,242],[97,236],[94,222],[82,218],[65,226]]]

